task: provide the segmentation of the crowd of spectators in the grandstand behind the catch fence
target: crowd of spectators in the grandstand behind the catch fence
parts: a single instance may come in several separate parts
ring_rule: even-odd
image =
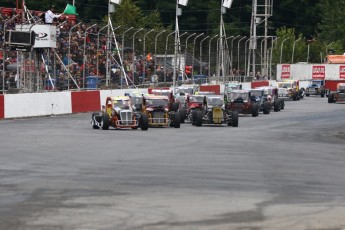
[[[4,24],[6,22],[6,30],[13,30],[15,29],[16,24],[22,24],[22,17],[20,16],[15,20],[10,20],[14,15],[16,15],[17,12],[15,10],[13,10],[13,12],[11,12],[10,14],[3,14],[1,12],[2,11],[0,9],[0,60],[1,65],[5,62],[5,65],[8,66],[16,62],[17,52],[10,50],[6,51],[6,60],[3,60],[2,51],[4,49]],[[39,21],[41,19],[41,14],[42,12],[31,12],[31,15],[33,16],[33,19],[35,21]],[[54,59],[54,52],[47,52],[48,49],[44,49],[44,55],[46,55],[46,64],[48,63],[48,66],[50,65],[50,74],[52,78],[57,82],[63,82],[64,84],[66,80],[61,81],[61,79],[69,78],[67,74],[67,70],[69,70],[71,76],[76,79],[80,87],[85,87],[86,76],[97,76],[100,79],[100,82],[105,82],[107,61],[106,34],[104,32],[99,33],[99,29],[101,28],[101,26],[96,25],[86,31],[86,29],[90,25],[84,22],[80,22],[79,24],[78,23],[79,22],[77,20],[68,20],[68,17],[66,17],[66,15],[62,15],[61,17],[53,19],[52,24],[57,28],[57,47],[55,51],[57,52],[58,56],[61,57],[62,63],[59,60]],[[73,30],[71,30],[72,27]],[[121,39],[121,37],[119,39]],[[118,42],[117,45],[113,42],[111,46],[113,59],[112,63],[115,64],[110,67],[109,84],[120,86],[125,83],[124,77],[121,77],[124,76],[124,74],[121,73],[119,64],[120,60],[119,56],[117,55],[118,51],[120,51],[119,53],[121,53],[122,50],[121,42]],[[70,56],[68,57],[69,53]],[[49,58],[47,56],[48,54],[50,55]],[[123,56],[123,66],[126,75],[128,76],[127,81],[129,82],[129,85],[137,85],[150,80],[154,72],[153,61],[154,59],[147,59],[143,56],[137,56],[134,58],[132,50],[126,50]],[[54,66],[51,66],[52,64]],[[52,70],[54,71],[52,72]],[[2,67],[0,71],[2,71]],[[44,73],[44,67],[41,68],[41,71],[43,76],[46,77],[46,73]],[[143,74],[143,71],[145,71],[145,75]],[[10,79],[16,78],[16,74],[14,72],[15,71],[6,71],[5,83],[7,86],[10,82]],[[170,81],[172,72],[168,71],[166,74],[167,77],[165,80]],[[159,76],[160,80],[163,80],[162,67],[158,67],[157,75]],[[145,79],[142,78],[143,76],[145,76]],[[45,81],[43,80],[42,82],[44,83]],[[0,83],[1,85],[3,85],[2,82]],[[73,86],[73,84],[70,84],[69,86],[71,86],[72,88],[75,87],[75,85]],[[62,87],[67,86],[62,85]]]

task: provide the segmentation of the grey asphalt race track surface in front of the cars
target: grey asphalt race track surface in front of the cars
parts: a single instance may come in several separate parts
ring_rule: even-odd
[[[238,128],[90,118],[0,121],[0,229],[345,229],[345,104],[286,102]]]

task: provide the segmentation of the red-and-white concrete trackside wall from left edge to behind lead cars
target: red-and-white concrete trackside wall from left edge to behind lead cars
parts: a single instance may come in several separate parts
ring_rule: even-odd
[[[107,96],[122,96],[130,92],[147,93],[147,89],[0,95],[0,119],[99,111]]]

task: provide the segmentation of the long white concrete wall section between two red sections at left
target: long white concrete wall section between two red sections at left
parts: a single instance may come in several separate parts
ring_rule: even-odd
[[[5,96],[5,118],[72,113],[71,93],[25,93]]]

